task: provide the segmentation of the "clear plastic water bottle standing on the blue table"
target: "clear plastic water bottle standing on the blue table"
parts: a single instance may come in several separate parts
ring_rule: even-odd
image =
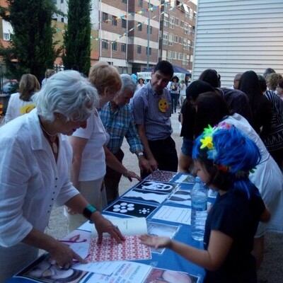
[[[196,241],[203,241],[205,221],[207,220],[207,189],[199,177],[195,178],[195,185],[192,188],[192,214],[191,229],[192,238]]]

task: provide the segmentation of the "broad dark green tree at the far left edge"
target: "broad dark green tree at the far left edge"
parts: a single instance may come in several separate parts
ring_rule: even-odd
[[[11,59],[17,62],[16,67],[9,69],[16,79],[31,73],[41,81],[59,54],[54,49],[56,42],[52,41],[54,28],[51,26],[52,14],[57,13],[57,8],[52,0],[7,0],[7,3],[8,8],[2,7],[0,16],[11,23],[13,34],[11,47],[8,50],[1,47],[0,55],[6,63]]]

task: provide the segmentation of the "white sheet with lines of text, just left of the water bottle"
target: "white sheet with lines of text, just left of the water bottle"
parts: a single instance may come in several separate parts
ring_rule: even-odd
[[[152,219],[190,225],[191,212],[192,209],[187,207],[169,207],[168,205],[163,205],[158,209],[156,214],[152,216]]]

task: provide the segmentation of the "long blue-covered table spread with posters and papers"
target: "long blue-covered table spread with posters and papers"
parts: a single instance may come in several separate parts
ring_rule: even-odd
[[[190,235],[190,190],[194,185],[194,181],[195,178],[189,174],[156,171],[137,185],[134,185],[115,202],[112,202],[103,210],[103,215],[108,218],[144,216],[146,217],[149,233],[155,233],[158,236],[171,236],[177,241],[188,243],[196,248],[203,248],[202,242],[193,240]],[[85,255],[89,241],[91,241],[90,231],[92,229],[93,224],[87,221],[86,224],[73,231],[64,240],[68,243],[72,242],[70,243],[71,247],[74,247],[80,255]],[[113,276],[117,274],[115,278],[112,278],[111,275],[101,275],[103,272],[93,274],[93,272],[69,270],[68,273],[68,270],[52,270],[53,267],[50,266],[49,269],[45,270],[46,265],[50,265],[47,259],[48,254],[42,255],[32,265],[9,279],[8,282],[137,283],[152,282],[153,279],[161,279],[161,277],[163,277],[163,282],[170,282],[164,281],[164,277],[178,276],[178,279],[175,278],[173,282],[201,283],[204,276],[204,270],[201,267],[188,262],[169,249],[151,249],[151,259],[147,260],[101,263],[101,270],[116,268],[116,273],[112,273]],[[105,265],[107,265],[107,268]],[[36,268],[34,268],[35,266]],[[96,266],[96,270],[100,267]],[[176,272],[170,273],[168,270]],[[23,277],[27,272],[37,279],[31,280],[28,277]],[[64,272],[64,275],[63,273],[59,274],[60,272]],[[187,274],[190,275],[190,281],[187,279],[187,276],[189,276]]]

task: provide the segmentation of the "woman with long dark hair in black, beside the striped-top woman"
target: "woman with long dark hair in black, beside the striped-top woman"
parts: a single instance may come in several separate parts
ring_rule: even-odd
[[[272,109],[270,102],[262,95],[258,75],[254,71],[245,71],[241,76],[238,89],[246,93],[250,100],[251,125],[255,132],[261,137],[266,137],[270,132]]]

